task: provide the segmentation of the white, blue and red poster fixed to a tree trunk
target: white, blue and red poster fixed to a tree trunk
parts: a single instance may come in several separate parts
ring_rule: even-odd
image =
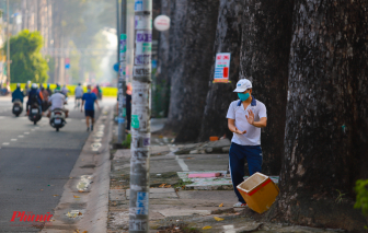
[[[214,82],[229,82],[230,57],[230,53],[220,53],[216,55]]]

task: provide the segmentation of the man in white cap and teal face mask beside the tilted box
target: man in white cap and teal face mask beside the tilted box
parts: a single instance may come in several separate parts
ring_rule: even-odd
[[[228,127],[233,132],[229,151],[229,165],[233,189],[239,202],[234,207],[245,207],[245,200],[237,189],[244,179],[244,163],[250,175],[262,172],[261,128],[267,125],[266,106],[252,96],[252,83],[242,79],[234,92],[240,100],[233,101],[228,110]]]

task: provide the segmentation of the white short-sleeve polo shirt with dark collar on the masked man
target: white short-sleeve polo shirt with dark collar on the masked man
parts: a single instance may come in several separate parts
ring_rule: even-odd
[[[267,117],[266,106],[254,97],[246,109],[244,109],[243,104],[239,100],[231,102],[227,118],[234,119],[235,127],[240,131],[246,130],[244,135],[233,132],[231,142],[241,145],[261,145],[261,128],[250,125],[245,118],[245,115],[249,115],[249,109],[254,113],[254,121],[258,121],[262,117]]]

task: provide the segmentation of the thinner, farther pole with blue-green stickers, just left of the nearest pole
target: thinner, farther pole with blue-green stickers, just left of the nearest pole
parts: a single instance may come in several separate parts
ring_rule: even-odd
[[[126,129],[126,50],[127,50],[127,35],[126,35],[126,0],[122,0],[122,25],[120,25],[120,50],[119,50],[119,79],[118,79],[118,132],[117,142],[122,143],[125,140],[125,129]]]

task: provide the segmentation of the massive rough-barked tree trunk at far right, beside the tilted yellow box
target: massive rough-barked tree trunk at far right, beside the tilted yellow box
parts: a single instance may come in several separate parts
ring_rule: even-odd
[[[281,193],[271,219],[367,224],[348,198],[368,167],[367,9],[365,0],[295,1]]]

